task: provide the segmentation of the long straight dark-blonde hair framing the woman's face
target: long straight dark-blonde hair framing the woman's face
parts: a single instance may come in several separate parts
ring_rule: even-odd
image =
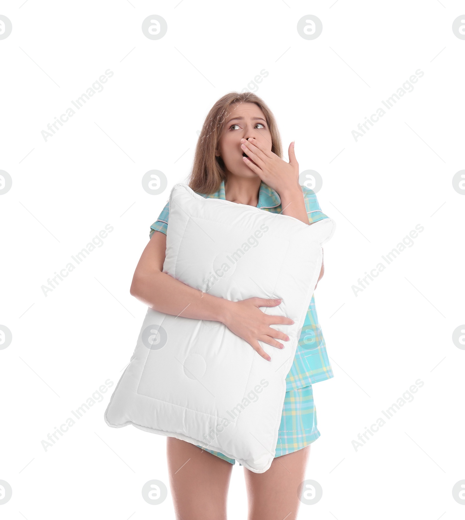
[[[265,101],[253,92],[229,92],[211,107],[200,131],[194,164],[187,183],[197,193],[215,193],[221,181],[226,179],[223,160],[215,155],[215,151],[226,121],[232,113],[230,107],[233,103],[255,103],[262,110],[271,133],[271,151],[283,158],[278,125]]]

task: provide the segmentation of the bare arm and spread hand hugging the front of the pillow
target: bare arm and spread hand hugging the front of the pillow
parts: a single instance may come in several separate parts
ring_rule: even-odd
[[[163,272],[165,253],[166,235],[154,231],[134,271],[130,289],[132,296],[160,313],[220,321],[268,360],[271,358],[258,340],[278,348],[282,348],[282,344],[274,338],[288,341],[287,334],[269,326],[272,323],[291,324],[294,321],[284,316],[267,315],[259,309],[279,305],[279,300],[254,297],[231,302],[202,293]]]

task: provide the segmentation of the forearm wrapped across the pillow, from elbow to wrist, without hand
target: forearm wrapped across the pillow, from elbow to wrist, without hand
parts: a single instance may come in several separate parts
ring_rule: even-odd
[[[160,313],[199,320],[223,322],[230,303],[158,270],[135,276],[130,293]]]

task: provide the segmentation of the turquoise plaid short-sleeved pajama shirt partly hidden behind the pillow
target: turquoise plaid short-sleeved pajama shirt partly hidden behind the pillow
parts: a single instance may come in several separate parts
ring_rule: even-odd
[[[321,211],[316,193],[306,186],[302,186],[301,188],[304,192],[304,200],[309,222],[318,222],[318,220],[328,218],[328,216]],[[224,180],[221,181],[221,185],[215,193],[208,195],[199,193],[199,195],[202,195],[202,197],[205,198],[226,200],[224,194]],[[260,183],[257,207],[273,213],[281,213],[282,211],[279,194],[263,183],[263,181]],[[161,231],[166,235],[168,229],[168,218],[169,200],[161,211],[156,222],[150,226],[150,238],[152,238],[155,231]],[[306,387],[320,381],[325,381],[326,379],[333,377],[334,374],[328,358],[328,353],[326,352],[323,333],[318,323],[317,309],[315,308],[315,295],[312,295],[304,325],[300,332],[300,338],[297,343],[294,362],[291,370],[286,376],[286,392]]]

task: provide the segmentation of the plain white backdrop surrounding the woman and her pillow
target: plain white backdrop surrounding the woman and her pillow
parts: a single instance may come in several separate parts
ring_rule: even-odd
[[[166,438],[109,428],[103,414],[146,313],[129,288],[149,227],[187,179],[210,107],[244,88],[275,114],[286,157],[295,139],[300,171],[320,173],[320,205],[337,223],[315,292],[335,374],[313,385],[321,437],[306,478],[323,496],[299,518],[463,518],[452,495],[465,479],[465,351],[452,341],[465,322],[465,197],[452,185],[465,167],[465,40],[452,31],[463,12],[455,0],[2,3],[12,22],[0,40],[0,169],[12,178],[0,197],[0,324],[12,333],[0,350],[5,518],[174,518],[170,495],[157,506],[141,495],[150,479],[169,486]],[[168,24],[160,40],[141,30],[153,14]],[[296,29],[309,14],[323,24],[315,40]],[[107,69],[103,91],[45,141]],[[356,142],[351,131],[417,69],[413,91]],[[141,184],[153,169],[168,177],[157,196]],[[44,296],[107,224],[104,244]],[[355,296],[417,224],[414,245]],[[44,451],[108,379],[103,400]],[[414,399],[356,451],[418,379]],[[236,463],[233,519],[246,517],[242,473]]]

